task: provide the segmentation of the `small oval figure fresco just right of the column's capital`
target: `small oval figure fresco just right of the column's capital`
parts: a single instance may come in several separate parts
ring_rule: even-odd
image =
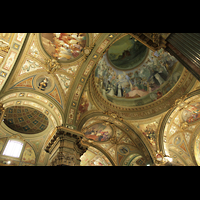
[[[108,125],[95,124],[87,129],[85,137],[97,142],[104,142],[112,136],[112,128]]]

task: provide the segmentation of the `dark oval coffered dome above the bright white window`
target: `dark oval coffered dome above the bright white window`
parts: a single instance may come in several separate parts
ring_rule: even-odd
[[[40,111],[26,106],[12,106],[6,109],[4,123],[14,131],[35,134],[44,131],[48,118]]]

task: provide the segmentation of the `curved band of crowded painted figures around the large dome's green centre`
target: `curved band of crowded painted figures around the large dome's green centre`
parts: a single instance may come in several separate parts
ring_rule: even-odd
[[[169,80],[169,84],[163,87],[163,91],[156,91],[170,78],[176,62],[177,60],[163,49],[156,54],[150,51],[141,66],[123,71],[112,67],[105,54],[97,64],[95,76],[106,99],[107,96],[138,98],[150,94],[150,99],[154,101],[168,92],[180,77],[180,73],[175,72],[177,76]],[[152,94],[153,91],[156,92]]]

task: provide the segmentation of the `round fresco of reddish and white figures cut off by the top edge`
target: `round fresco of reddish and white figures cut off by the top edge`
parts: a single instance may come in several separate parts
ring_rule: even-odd
[[[67,61],[80,55],[86,46],[86,33],[42,33],[41,41],[49,55]]]

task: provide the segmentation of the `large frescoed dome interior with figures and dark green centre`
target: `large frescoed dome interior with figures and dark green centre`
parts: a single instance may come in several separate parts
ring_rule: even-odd
[[[141,106],[167,94],[179,80],[183,68],[163,49],[153,52],[126,35],[112,44],[97,63],[95,85],[114,104]]]

